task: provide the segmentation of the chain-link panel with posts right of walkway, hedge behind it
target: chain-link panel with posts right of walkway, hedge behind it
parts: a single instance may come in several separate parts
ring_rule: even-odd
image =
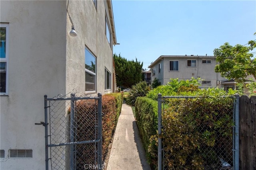
[[[224,100],[229,104],[222,104]],[[210,97],[158,94],[158,170],[162,169],[238,170],[239,96],[212,102]]]

